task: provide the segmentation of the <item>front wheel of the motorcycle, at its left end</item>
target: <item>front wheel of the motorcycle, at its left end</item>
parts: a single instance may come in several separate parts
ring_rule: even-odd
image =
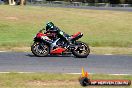
[[[35,42],[31,46],[31,51],[35,56],[44,57],[49,54],[49,46],[43,43]]]

